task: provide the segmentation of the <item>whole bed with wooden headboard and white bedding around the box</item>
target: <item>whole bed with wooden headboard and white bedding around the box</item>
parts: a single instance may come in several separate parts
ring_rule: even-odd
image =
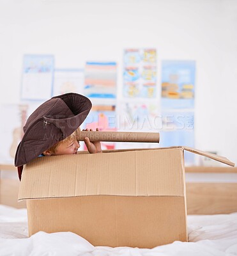
[[[188,243],[153,249],[95,247],[72,232],[28,237],[15,168],[0,171],[0,255],[237,255],[237,168],[186,168]]]

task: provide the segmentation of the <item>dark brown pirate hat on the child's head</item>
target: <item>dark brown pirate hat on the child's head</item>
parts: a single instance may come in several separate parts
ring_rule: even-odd
[[[47,100],[27,119],[24,136],[17,147],[15,166],[40,156],[72,134],[86,119],[91,101],[77,93],[66,93]]]

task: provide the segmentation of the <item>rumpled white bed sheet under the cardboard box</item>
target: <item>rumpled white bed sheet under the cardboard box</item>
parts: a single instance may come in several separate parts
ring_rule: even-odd
[[[0,205],[0,255],[237,255],[237,212],[188,216],[188,243],[175,241],[153,249],[93,246],[72,232],[27,237],[26,209]]]

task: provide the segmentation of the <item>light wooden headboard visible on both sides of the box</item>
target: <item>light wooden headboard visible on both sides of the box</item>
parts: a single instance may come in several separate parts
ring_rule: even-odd
[[[14,179],[0,179],[0,204],[16,208],[26,207],[26,202],[17,202],[19,179],[17,168],[0,164],[0,172],[11,172]],[[236,173],[237,168],[187,167],[186,173]],[[186,182],[188,214],[225,214],[237,212],[237,182]]]

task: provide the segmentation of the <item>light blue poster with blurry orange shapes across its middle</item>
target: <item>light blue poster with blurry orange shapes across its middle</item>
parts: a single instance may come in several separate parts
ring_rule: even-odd
[[[162,109],[194,108],[195,61],[162,61]]]

